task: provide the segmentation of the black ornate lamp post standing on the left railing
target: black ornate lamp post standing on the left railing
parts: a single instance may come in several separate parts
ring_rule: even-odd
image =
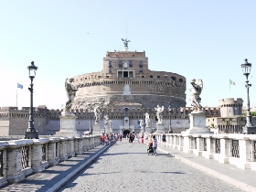
[[[38,133],[34,127],[34,118],[33,118],[33,79],[36,77],[37,67],[34,65],[34,61],[31,62],[30,66],[27,66],[28,77],[31,80],[30,88],[30,109],[29,109],[29,119],[28,119],[28,128],[25,132],[25,139],[38,139]]]

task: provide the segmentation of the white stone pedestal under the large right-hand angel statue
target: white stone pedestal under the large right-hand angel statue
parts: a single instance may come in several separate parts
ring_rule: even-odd
[[[203,111],[191,112],[189,114],[190,127],[183,134],[204,134],[213,133],[206,126],[206,115]]]

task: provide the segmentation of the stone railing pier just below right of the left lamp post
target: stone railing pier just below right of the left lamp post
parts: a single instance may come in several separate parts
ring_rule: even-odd
[[[31,145],[31,168],[33,169],[33,172],[38,173],[45,169],[45,166],[42,165],[42,147],[43,144],[48,143],[48,141],[48,138],[33,139],[34,144]]]

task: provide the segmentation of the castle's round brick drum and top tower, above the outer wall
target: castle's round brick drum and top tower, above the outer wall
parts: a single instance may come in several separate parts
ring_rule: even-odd
[[[101,101],[123,103],[123,109],[137,104],[144,109],[157,105],[186,106],[186,78],[149,69],[145,52],[129,51],[128,45],[124,51],[108,51],[103,69],[74,77],[74,85],[79,91],[73,109],[84,109],[88,103]]]

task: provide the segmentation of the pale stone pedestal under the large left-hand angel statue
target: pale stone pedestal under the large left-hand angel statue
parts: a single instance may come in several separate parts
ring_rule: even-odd
[[[76,129],[76,115],[71,112],[61,112],[60,130],[55,135],[59,136],[80,136]]]

